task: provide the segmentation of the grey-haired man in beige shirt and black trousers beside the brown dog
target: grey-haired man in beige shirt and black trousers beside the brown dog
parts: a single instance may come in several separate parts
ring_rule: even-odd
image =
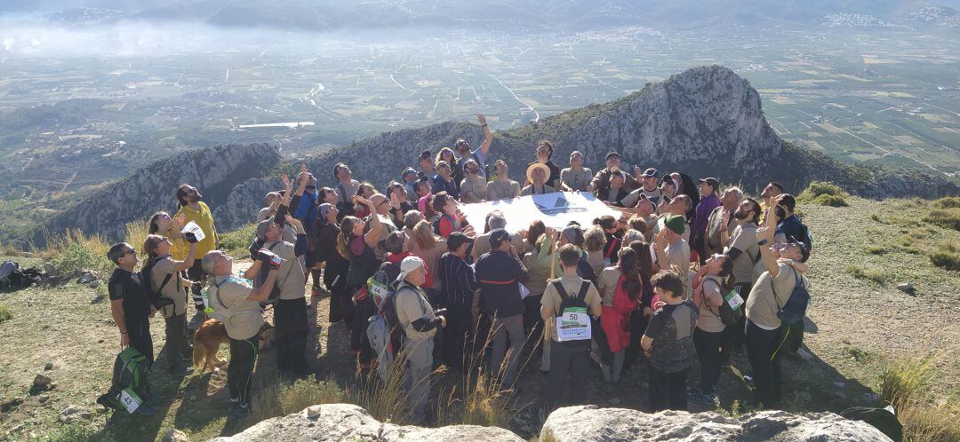
[[[267,279],[259,288],[252,288],[232,276],[233,259],[223,250],[212,250],[204,255],[201,265],[213,275],[209,287],[210,302],[220,317],[230,338],[230,362],[227,367],[227,388],[230,395],[228,411],[238,417],[250,415],[253,365],[259,345],[263,314],[260,302],[267,300],[274,290],[278,266],[272,264],[275,255],[261,252],[253,262],[255,271],[269,266]]]

